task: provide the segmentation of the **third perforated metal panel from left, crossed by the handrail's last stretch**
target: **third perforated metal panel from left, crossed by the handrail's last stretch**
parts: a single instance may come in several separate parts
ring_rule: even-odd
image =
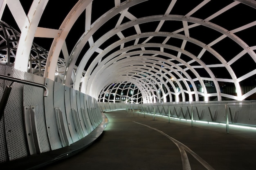
[[[25,73],[25,80],[36,82],[39,84],[45,84],[45,78],[30,73]],[[43,88],[24,85],[24,106],[35,106],[36,110],[36,126],[39,137],[39,145],[41,152],[47,152],[50,150],[49,139],[47,135],[47,128],[45,124],[45,109],[44,103],[44,91]]]

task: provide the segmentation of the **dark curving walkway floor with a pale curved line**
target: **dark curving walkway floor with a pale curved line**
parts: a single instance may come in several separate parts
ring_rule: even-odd
[[[177,121],[125,110],[94,143],[40,170],[255,170],[256,131]]]

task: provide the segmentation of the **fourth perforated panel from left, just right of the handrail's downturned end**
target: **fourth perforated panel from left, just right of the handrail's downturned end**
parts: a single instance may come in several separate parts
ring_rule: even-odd
[[[45,79],[45,85],[48,88],[48,97],[44,97],[45,100],[45,121],[47,127],[47,134],[52,150],[62,148],[61,139],[58,135],[58,127],[56,123],[55,109],[54,109],[54,81]]]

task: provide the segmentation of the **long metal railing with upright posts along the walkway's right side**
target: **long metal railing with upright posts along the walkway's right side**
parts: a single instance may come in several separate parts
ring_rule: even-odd
[[[218,101],[218,102],[172,102],[162,104],[129,104],[126,112],[162,115],[170,119],[180,119],[209,124],[225,124],[229,133],[229,125],[256,126],[256,101]]]

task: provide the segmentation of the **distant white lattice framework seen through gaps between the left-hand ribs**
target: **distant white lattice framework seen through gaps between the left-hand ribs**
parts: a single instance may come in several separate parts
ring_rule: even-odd
[[[13,29],[5,22],[0,22],[0,64],[13,66],[16,59],[16,51],[18,47],[18,41],[20,38],[20,33]],[[28,72],[43,76],[45,72],[45,64],[47,61],[49,51],[43,49],[41,46],[33,43],[29,55],[29,64],[28,64]],[[62,82],[64,71],[66,68],[65,61],[62,58],[58,58],[55,78],[56,82]],[[74,67],[75,75],[77,70],[77,66]],[[84,72],[85,74],[85,72]]]

